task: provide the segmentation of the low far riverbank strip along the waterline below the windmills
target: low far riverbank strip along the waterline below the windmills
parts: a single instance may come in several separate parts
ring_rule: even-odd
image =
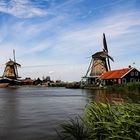
[[[7,87],[65,87],[72,89],[89,89],[89,90],[109,90],[109,91],[125,91],[125,92],[139,92],[140,93],[140,82],[127,83],[127,84],[115,84],[111,86],[81,86],[80,82],[56,82],[51,84],[8,84],[0,83],[0,88]]]

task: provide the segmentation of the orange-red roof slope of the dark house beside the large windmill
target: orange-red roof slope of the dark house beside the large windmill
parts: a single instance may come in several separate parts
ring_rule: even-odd
[[[115,79],[115,78],[121,78],[123,75],[125,75],[128,71],[130,71],[132,68],[124,68],[119,70],[112,70],[104,73],[99,78],[100,79]]]

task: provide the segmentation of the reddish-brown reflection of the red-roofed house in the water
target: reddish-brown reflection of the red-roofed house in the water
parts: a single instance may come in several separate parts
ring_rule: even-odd
[[[108,90],[84,90],[88,96],[88,101],[96,101],[103,103],[123,103],[132,102],[140,103],[140,92],[139,91],[108,91]]]

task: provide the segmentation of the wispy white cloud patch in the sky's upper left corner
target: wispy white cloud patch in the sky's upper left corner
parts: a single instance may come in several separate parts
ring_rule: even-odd
[[[0,1],[0,11],[19,18],[31,18],[47,14],[46,11],[32,5],[29,0]]]

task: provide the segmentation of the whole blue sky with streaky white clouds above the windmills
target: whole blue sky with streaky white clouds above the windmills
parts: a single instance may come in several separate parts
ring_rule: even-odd
[[[140,70],[140,0],[0,0],[0,75],[80,81],[106,35],[112,69]]]

